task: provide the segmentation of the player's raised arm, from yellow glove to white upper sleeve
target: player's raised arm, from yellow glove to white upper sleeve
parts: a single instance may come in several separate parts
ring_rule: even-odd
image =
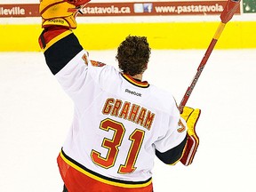
[[[44,30],[38,41],[46,64],[73,100],[83,89],[87,68],[84,64],[89,60],[72,30],[76,28],[77,12],[89,1],[42,0],[39,9]]]

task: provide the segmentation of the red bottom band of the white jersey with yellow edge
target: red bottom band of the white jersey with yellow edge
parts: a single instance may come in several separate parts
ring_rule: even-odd
[[[148,185],[143,187],[137,187],[140,185],[134,185],[131,187],[132,184],[124,184],[124,183],[116,183],[116,185],[112,185],[113,181],[100,179],[99,176],[92,176],[90,172],[86,175],[86,171],[79,172],[80,167],[77,167],[76,164],[72,164],[68,162],[68,159],[63,156],[62,152],[57,158],[60,175],[62,180],[65,183],[65,186],[68,188],[68,192],[152,192],[153,185],[152,182],[149,181]],[[93,177],[93,178],[92,178]],[[99,180],[97,180],[99,178]],[[119,186],[118,186],[119,185]],[[127,185],[127,188],[125,188]],[[137,188],[136,188],[137,187]]]

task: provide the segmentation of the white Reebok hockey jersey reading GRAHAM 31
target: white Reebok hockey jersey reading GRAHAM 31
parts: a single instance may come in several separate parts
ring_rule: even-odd
[[[81,50],[53,73],[75,106],[58,157],[61,176],[66,185],[85,185],[88,191],[152,191],[156,152],[171,154],[170,164],[179,160],[179,150],[174,160],[168,151],[186,140],[186,123],[172,94],[89,60],[86,53]],[[97,186],[101,189],[93,190]],[[112,187],[119,189],[102,189]]]

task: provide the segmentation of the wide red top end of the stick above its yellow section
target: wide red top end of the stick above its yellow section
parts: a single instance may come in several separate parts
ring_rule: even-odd
[[[223,12],[220,15],[220,19],[223,23],[227,23],[234,16],[237,8],[240,6],[241,0],[228,0]]]

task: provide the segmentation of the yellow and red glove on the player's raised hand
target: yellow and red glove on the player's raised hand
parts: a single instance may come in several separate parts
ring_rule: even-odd
[[[78,12],[91,0],[40,0],[42,28],[63,26],[75,29]]]

